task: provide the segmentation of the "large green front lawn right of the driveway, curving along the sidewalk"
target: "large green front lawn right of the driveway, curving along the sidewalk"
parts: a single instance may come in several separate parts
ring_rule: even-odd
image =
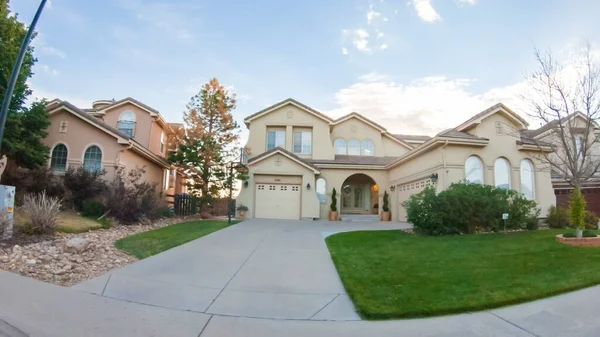
[[[554,240],[565,230],[428,237],[362,231],[326,239],[367,319],[477,311],[600,283],[600,248]]]

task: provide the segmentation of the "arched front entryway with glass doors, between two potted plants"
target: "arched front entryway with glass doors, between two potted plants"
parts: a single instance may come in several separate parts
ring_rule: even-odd
[[[377,214],[379,187],[373,178],[356,173],[344,180],[341,190],[342,214]]]

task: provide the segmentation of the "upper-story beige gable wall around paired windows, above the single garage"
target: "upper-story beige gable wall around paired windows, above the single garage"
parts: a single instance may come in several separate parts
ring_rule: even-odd
[[[283,106],[269,114],[252,120],[246,147],[250,149],[249,157],[256,157],[267,149],[267,127],[285,127],[285,149],[294,152],[294,127],[312,127],[312,155],[304,156],[313,159],[333,159],[333,143],[329,137],[329,122],[318,118],[293,105]]]

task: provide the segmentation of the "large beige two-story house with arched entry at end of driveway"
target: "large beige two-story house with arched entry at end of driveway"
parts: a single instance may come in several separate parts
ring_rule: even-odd
[[[244,121],[249,172],[237,202],[248,217],[327,218],[335,188],[342,217],[381,212],[387,191],[392,219],[405,221],[412,194],[461,180],[520,191],[542,214],[555,204],[550,169],[536,159],[551,148],[534,145],[503,104],[434,137],[392,134],[355,112],[332,119],[293,99]]]

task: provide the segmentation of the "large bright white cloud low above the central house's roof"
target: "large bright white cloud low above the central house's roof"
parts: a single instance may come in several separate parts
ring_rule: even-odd
[[[370,73],[335,94],[338,108],[328,112],[339,117],[357,111],[396,133],[428,134],[455,127],[499,101],[519,111],[518,94],[525,83],[474,93],[468,78],[431,76],[408,84],[389,76]],[[523,116],[526,117],[526,116]]]

